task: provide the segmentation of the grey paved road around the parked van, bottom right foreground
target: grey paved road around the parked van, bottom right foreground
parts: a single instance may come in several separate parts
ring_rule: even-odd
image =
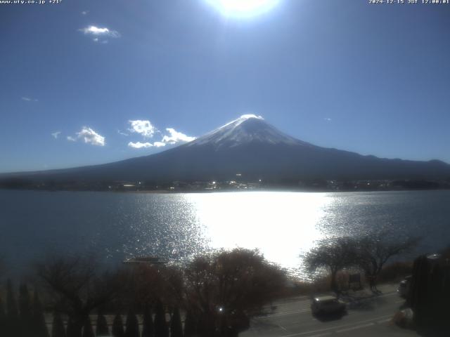
[[[394,285],[379,286],[378,296],[366,291],[349,293],[347,315],[318,319],[311,315],[311,300],[305,296],[283,300],[270,315],[252,319],[250,329],[240,337],[322,336],[418,336],[392,324],[392,316],[404,303]],[[369,297],[370,296],[370,297]]]

